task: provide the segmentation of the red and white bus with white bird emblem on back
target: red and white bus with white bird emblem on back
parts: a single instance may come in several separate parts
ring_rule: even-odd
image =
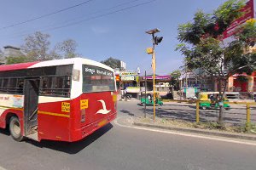
[[[13,139],[78,141],[113,121],[113,69],[82,58],[0,65],[0,127]]]

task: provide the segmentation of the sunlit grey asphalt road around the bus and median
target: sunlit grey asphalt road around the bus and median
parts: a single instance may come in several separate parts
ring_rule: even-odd
[[[134,114],[119,102],[119,117]],[[143,114],[139,113],[139,114]],[[83,141],[17,143],[0,131],[0,169],[255,170],[256,146],[108,124]]]

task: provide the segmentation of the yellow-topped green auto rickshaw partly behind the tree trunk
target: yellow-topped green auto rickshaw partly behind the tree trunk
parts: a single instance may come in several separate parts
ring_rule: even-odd
[[[217,109],[219,107],[219,103],[218,103],[218,92],[202,92],[199,93],[199,107],[202,110],[206,110],[206,109]],[[230,110],[230,104],[228,104],[227,102],[229,101],[229,99],[227,99],[224,96],[224,109],[225,110]]]

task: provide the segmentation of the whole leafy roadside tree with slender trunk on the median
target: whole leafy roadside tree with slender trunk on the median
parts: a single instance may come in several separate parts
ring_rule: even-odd
[[[178,26],[177,49],[185,56],[185,63],[191,70],[201,69],[218,82],[219,100],[224,102],[228,78],[237,72],[252,73],[255,69],[255,54],[245,53],[256,37],[253,20],[238,28],[236,39],[229,44],[221,40],[224,31],[233,20],[242,14],[242,0],[229,0],[220,5],[213,14],[201,10],[195,13],[193,22]],[[219,105],[218,123],[223,125],[224,107]]]

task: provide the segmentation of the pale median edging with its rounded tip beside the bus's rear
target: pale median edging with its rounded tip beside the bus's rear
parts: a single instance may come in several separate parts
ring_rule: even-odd
[[[154,122],[139,122],[133,116],[124,116],[119,117],[116,122],[120,125],[124,126],[134,126],[134,127],[146,127],[146,128],[155,128],[155,129],[163,129],[169,130],[172,132],[183,132],[183,133],[194,133],[194,134],[201,134],[207,135],[212,137],[224,137],[229,139],[245,139],[245,140],[253,140],[256,141],[256,134],[249,134],[249,133],[230,133],[230,132],[223,132],[218,130],[210,130],[210,129],[200,129],[200,128],[188,128],[188,127],[174,127],[174,126],[163,126],[156,124]]]

